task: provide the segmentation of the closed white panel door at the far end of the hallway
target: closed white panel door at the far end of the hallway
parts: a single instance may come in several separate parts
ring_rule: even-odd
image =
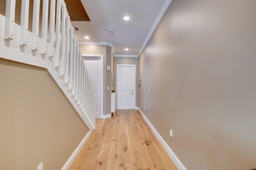
[[[117,66],[117,109],[134,109],[136,65]]]

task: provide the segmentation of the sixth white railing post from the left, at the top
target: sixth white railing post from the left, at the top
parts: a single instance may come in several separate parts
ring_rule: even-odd
[[[55,39],[55,53],[53,56],[54,67],[59,67],[60,58],[60,14],[61,14],[61,2],[62,0],[57,0],[56,8],[56,39]]]

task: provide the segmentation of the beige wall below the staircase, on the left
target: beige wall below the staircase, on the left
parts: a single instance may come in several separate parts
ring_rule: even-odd
[[[89,129],[48,72],[0,59],[0,169],[60,170]]]

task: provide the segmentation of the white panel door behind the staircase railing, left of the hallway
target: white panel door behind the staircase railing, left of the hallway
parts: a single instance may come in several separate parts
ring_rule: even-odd
[[[101,71],[103,68],[101,68],[101,57],[84,57],[84,63],[86,70],[88,71],[88,75],[90,77],[90,80],[92,82],[92,86],[94,89],[94,94],[96,96],[96,111],[95,111],[95,117],[100,118],[101,112],[102,112],[102,105],[101,105],[101,84],[103,83],[103,80],[101,78]]]

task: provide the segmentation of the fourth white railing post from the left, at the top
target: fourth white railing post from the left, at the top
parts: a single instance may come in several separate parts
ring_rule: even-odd
[[[48,8],[49,8],[49,0],[43,0],[41,54],[46,54],[47,52],[46,48],[47,48],[47,34],[48,34]]]

